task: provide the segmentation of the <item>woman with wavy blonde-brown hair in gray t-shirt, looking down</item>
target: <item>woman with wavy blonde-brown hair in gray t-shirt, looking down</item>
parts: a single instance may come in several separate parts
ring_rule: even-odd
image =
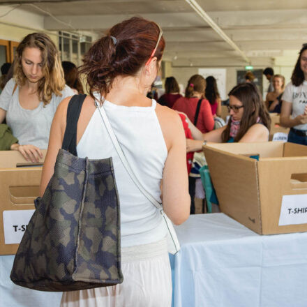
[[[65,85],[57,47],[44,33],[27,35],[14,63],[13,79],[0,96],[0,123],[6,119],[19,140],[10,149],[36,162],[47,149],[57,106],[73,91]]]

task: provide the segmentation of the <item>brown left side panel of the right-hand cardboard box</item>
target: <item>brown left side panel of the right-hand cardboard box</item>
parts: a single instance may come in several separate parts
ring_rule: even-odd
[[[228,148],[237,144],[228,144],[231,145]],[[241,152],[242,149],[232,148],[232,151]],[[234,153],[225,155],[225,151],[211,146],[203,150],[221,211],[251,230],[262,232],[257,160]]]

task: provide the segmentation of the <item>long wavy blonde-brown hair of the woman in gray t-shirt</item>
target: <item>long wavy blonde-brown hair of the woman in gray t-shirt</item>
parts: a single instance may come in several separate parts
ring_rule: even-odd
[[[18,45],[14,61],[14,79],[18,86],[22,87],[27,77],[22,70],[22,53],[25,48],[38,48],[42,57],[43,77],[38,81],[38,96],[44,105],[50,103],[52,93],[62,96],[61,91],[65,87],[65,80],[59,51],[49,36],[45,33],[31,33],[23,38]]]

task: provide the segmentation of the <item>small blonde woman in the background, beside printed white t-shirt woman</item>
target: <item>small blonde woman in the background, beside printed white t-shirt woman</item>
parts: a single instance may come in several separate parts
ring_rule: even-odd
[[[267,93],[265,101],[269,112],[280,113],[281,110],[281,96],[285,91],[285,77],[283,75],[274,75],[273,77],[274,91]]]

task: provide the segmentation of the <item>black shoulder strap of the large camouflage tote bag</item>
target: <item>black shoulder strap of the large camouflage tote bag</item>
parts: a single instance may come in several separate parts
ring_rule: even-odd
[[[86,94],[74,95],[67,107],[66,129],[62,149],[77,156],[77,123]]]

